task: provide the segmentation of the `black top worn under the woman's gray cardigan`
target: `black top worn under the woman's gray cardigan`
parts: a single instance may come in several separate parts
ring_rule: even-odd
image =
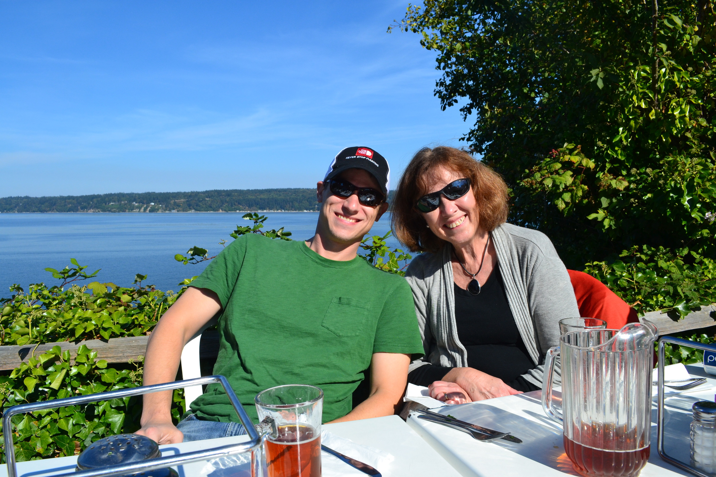
[[[455,285],[455,323],[458,338],[468,351],[468,366],[500,378],[518,391],[538,390],[521,375],[535,367],[512,315],[500,269],[490,274],[479,295]],[[453,368],[422,365],[408,381],[427,386],[442,380]]]

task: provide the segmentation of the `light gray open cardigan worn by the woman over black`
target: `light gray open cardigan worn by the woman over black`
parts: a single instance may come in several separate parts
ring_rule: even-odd
[[[579,317],[569,274],[542,232],[505,223],[490,237],[510,309],[535,364],[523,377],[541,388],[546,351],[558,345],[559,320]],[[411,371],[428,363],[468,366],[468,353],[455,325],[452,251],[448,243],[442,252],[422,253],[405,272],[425,348],[425,357],[413,361]]]

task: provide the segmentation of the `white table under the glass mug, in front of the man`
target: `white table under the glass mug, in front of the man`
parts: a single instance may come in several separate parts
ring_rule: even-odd
[[[435,450],[423,441],[415,431],[397,415],[384,418],[364,419],[347,423],[326,424],[326,431],[350,439],[364,446],[378,448],[391,453],[395,460],[379,471],[384,477],[458,477],[455,471]],[[200,449],[218,447],[223,444],[248,441],[247,436],[209,439],[160,446],[163,456]],[[60,457],[18,463],[19,477],[49,477],[74,471],[77,457]],[[248,465],[231,468],[231,471],[208,468],[205,462],[179,466],[179,477],[250,477]],[[0,477],[6,477],[6,466],[0,466]]]

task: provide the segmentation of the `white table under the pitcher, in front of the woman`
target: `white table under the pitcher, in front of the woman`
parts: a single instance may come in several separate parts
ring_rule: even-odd
[[[693,376],[716,380],[704,372],[702,365],[687,365]],[[715,390],[667,393],[664,450],[680,461],[689,461],[689,426],[692,421],[691,405],[697,400],[714,400]],[[652,399],[652,447],[643,477],[667,477],[681,474],[691,476],[662,461],[657,453],[656,394]],[[564,453],[562,426],[548,418],[542,410],[541,391],[503,398],[483,400],[478,403],[446,406],[435,409],[462,421],[479,424],[490,429],[513,433],[523,443],[516,444],[503,439],[490,442],[476,441],[467,433],[416,417],[407,423],[420,434],[463,476],[505,477],[556,477],[561,474],[578,476],[571,461]]]

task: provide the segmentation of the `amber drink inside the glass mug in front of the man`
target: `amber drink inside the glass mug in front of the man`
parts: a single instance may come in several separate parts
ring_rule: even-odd
[[[311,426],[279,426],[265,445],[269,477],[321,477],[321,436]]]

